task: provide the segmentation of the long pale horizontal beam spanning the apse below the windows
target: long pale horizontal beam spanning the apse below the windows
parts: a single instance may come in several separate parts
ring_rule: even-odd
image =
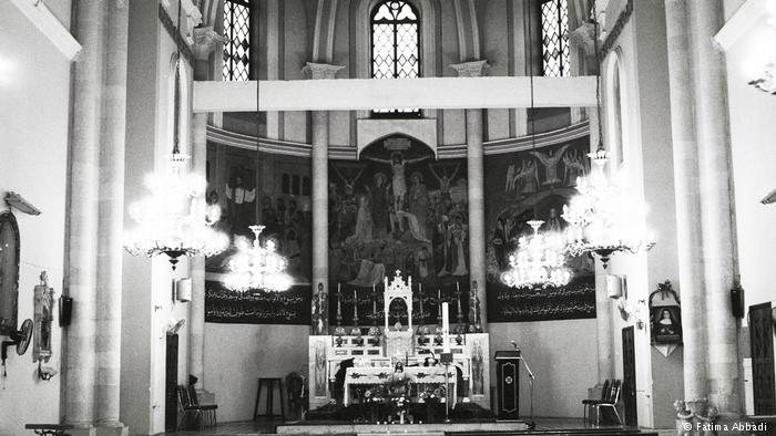
[[[194,82],[194,112],[256,112],[256,83]],[[259,111],[531,107],[530,77],[259,81]],[[595,77],[533,77],[535,107],[595,106]]]

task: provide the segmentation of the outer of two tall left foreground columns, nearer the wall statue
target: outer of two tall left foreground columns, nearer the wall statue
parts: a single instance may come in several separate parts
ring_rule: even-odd
[[[63,293],[73,299],[71,324],[62,338],[62,416],[93,434],[100,114],[102,112],[105,3],[79,1],[73,35],[83,45],[73,64],[72,126],[68,183],[68,235]]]

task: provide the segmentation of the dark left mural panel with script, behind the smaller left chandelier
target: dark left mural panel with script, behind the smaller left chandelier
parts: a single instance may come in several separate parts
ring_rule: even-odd
[[[313,268],[309,158],[208,144],[206,177],[207,201],[222,209],[215,226],[232,240],[229,249],[206,259],[206,321],[309,323]],[[233,292],[221,284],[228,259],[236,252],[235,240],[253,240],[249,226],[255,224],[266,226],[261,235],[262,243],[273,240],[288,261],[286,272],[294,286],[283,298],[261,290]]]

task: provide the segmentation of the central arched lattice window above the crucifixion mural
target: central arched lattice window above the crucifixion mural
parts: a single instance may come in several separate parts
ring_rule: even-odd
[[[412,79],[420,76],[418,12],[399,0],[385,0],[371,14],[371,76]],[[420,116],[417,108],[377,110],[376,115]]]

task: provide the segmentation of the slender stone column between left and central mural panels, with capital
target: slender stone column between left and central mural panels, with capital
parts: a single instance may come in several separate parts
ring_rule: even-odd
[[[303,73],[307,79],[334,79],[339,65],[307,62]],[[326,111],[313,111],[313,289],[324,284],[320,305],[328,307],[329,288],[329,191],[328,191],[328,148],[329,114]],[[328,313],[324,313],[324,324],[328,325]]]

